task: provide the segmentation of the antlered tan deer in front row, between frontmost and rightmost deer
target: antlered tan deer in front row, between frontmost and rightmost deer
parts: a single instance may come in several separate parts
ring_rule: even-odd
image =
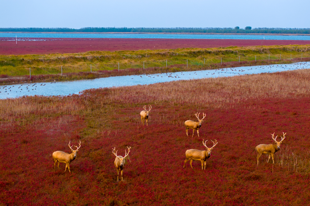
[[[203,169],[205,170],[206,169],[206,163],[207,163],[206,161],[211,156],[211,151],[212,151],[213,147],[215,147],[215,145],[218,144],[218,142],[216,140],[215,140],[215,143],[214,143],[214,141],[211,140],[213,142],[213,147],[208,148],[206,146],[206,142],[207,141],[208,140],[206,140],[206,141],[204,141],[204,139],[202,140],[202,144],[207,148],[206,150],[198,150],[198,149],[188,149],[188,150],[186,150],[186,152],[185,152],[186,159],[184,161],[183,168],[185,166],[185,163],[188,160],[190,160],[189,164],[191,165],[191,167],[193,169],[193,166],[192,166],[193,160],[198,160],[198,161],[201,161],[201,170],[203,170]],[[203,167],[203,165],[205,167]]]

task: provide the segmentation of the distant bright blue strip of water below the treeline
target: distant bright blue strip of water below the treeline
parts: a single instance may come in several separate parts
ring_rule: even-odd
[[[0,33],[1,37],[15,38],[141,38],[141,39],[258,39],[310,40],[310,36],[287,35],[210,35],[210,34],[80,34],[80,33]],[[12,40],[13,41],[13,40]]]

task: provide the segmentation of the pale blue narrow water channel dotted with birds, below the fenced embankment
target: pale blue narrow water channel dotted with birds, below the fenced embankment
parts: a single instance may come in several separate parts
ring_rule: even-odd
[[[246,66],[224,69],[212,69],[203,71],[188,71],[175,73],[160,73],[148,75],[130,75],[119,77],[98,78],[91,80],[67,81],[67,82],[40,82],[22,83],[0,86],[0,99],[15,98],[24,95],[71,95],[91,88],[104,88],[113,86],[146,85],[159,82],[178,80],[230,77],[244,74],[272,73],[295,69],[310,69],[310,62],[297,62],[286,65]]]

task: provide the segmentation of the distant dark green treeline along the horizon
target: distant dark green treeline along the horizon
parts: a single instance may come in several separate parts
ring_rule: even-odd
[[[115,28],[85,27],[71,28],[0,28],[0,32],[136,32],[136,33],[233,33],[233,34],[310,34],[310,28]]]

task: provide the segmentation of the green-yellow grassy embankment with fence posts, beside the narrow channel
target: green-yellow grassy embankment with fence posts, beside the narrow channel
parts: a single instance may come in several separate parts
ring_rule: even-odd
[[[66,81],[247,65],[287,64],[297,61],[310,61],[309,52],[309,45],[280,45],[153,51],[94,51],[48,55],[2,55],[0,56],[0,83],[30,81],[29,68],[31,68],[32,82]],[[268,61],[269,55],[270,61]],[[290,60],[291,55],[292,60]],[[145,69],[143,69],[143,62]],[[118,63],[120,71],[118,71]],[[61,76],[61,67],[63,76]],[[91,70],[92,72],[90,72]]]

